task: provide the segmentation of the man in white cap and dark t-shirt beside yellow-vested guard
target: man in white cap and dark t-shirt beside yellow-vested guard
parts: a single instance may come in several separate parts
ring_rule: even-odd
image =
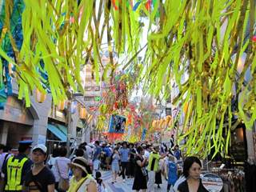
[[[31,157],[34,164],[32,170],[26,174],[24,191],[54,192],[54,174],[44,163],[47,158],[46,146],[34,146]]]

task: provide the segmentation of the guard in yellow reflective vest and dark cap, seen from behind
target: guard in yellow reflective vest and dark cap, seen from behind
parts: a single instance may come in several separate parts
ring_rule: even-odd
[[[8,158],[2,166],[2,173],[5,175],[5,191],[22,191],[22,184],[25,181],[33,162],[28,158],[33,141],[20,141],[18,155]]]

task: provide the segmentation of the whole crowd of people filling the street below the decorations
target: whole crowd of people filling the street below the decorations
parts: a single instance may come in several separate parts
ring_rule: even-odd
[[[83,142],[67,158],[66,146],[58,146],[48,155],[46,146],[32,148],[31,143],[20,142],[15,155],[0,145],[0,191],[106,191],[102,170],[112,172],[113,185],[120,182],[118,177],[122,182],[134,178],[135,191],[152,192],[155,184],[166,191],[207,191],[199,178],[201,162],[195,157],[183,162],[178,146]],[[160,186],[162,178],[167,186]]]

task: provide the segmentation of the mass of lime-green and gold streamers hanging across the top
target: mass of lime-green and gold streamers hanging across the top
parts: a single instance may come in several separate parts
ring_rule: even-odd
[[[173,84],[171,82],[175,82],[179,93],[173,99],[174,105],[190,100],[183,124],[190,127],[183,127],[187,131],[178,137],[186,138],[187,154],[202,154],[206,157],[210,150],[215,150],[215,154],[223,151],[227,153],[230,130],[234,128],[230,120],[234,114],[238,116],[238,121],[245,123],[246,128],[254,126],[256,103],[251,101],[256,100],[256,96],[254,91],[248,92],[254,90],[251,86],[256,81],[254,9],[248,9],[254,6],[254,1],[226,3],[226,0],[213,0],[210,3],[198,3],[143,0],[139,1],[142,2],[141,6],[138,1],[134,1],[133,10],[121,0],[102,1],[101,10],[96,9],[94,0],[63,0],[62,3],[57,3],[57,0],[52,3],[44,0],[2,2],[2,10],[5,11],[0,13],[1,18],[4,18],[0,21],[0,55],[2,76],[5,78],[4,90],[6,95],[12,94],[8,63],[13,63],[19,77],[18,98],[25,98],[26,106],[30,106],[33,90],[36,87],[38,90],[44,88],[42,84],[49,85],[54,103],[70,97],[67,90],[83,91],[79,72],[85,60],[94,66],[96,79],[99,79],[100,68],[105,73],[111,69],[110,82],[121,82],[122,78],[114,80],[117,66],[122,65],[114,63],[113,55],[110,56],[108,67],[102,65],[99,50],[103,34],[107,33],[110,54],[114,50],[118,55],[127,53],[128,62],[123,70],[136,69],[134,82],[141,83],[143,79],[147,83],[145,89],[148,88],[148,92],[155,96],[160,95],[162,90],[168,90]],[[113,7],[117,10],[114,13],[111,10]],[[155,19],[158,12],[160,17]],[[80,18],[73,22],[73,18],[70,19],[73,16]],[[139,19],[141,16],[147,17],[150,22],[149,29],[146,29],[146,39],[150,41],[146,46],[140,45],[144,25]],[[222,22],[226,27],[222,26]],[[223,30],[225,35],[222,35]],[[23,34],[26,34],[24,38]],[[250,40],[245,41],[244,37]],[[114,46],[111,46],[112,42]],[[137,56],[144,48],[146,55],[139,67]],[[236,82],[240,55],[234,62],[232,55],[244,52],[247,56]],[[43,67],[38,60],[42,60]],[[46,79],[42,80],[38,68],[47,74]],[[252,75],[250,82],[244,81],[248,79],[245,78],[247,70]],[[187,78],[184,79],[185,76]],[[237,84],[235,90],[232,89],[234,82]],[[130,86],[126,84],[128,89]],[[231,111],[232,97],[238,100],[240,92],[242,95],[247,94],[250,100],[244,104],[245,107],[239,101],[238,109]],[[116,110],[126,106],[122,97],[114,97],[109,101],[112,104],[109,111],[114,110],[114,103]],[[182,117],[180,114],[173,116],[173,122]],[[214,142],[208,135],[216,135]]]

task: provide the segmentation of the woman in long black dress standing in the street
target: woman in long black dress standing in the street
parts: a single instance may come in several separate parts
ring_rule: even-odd
[[[138,154],[135,157],[134,184],[133,190],[146,192],[146,158],[143,158],[144,149],[137,147]]]

